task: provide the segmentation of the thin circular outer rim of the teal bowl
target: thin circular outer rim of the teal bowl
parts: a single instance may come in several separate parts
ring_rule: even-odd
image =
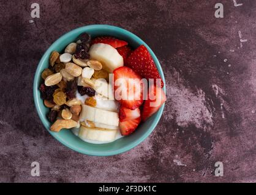
[[[148,44],[146,44],[143,40],[141,40],[141,38],[139,38],[137,35],[133,34],[132,32],[126,30],[126,29],[122,29],[121,27],[118,26],[111,26],[108,24],[92,24],[92,25],[87,25],[87,26],[82,26],[82,27],[78,27],[77,29],[73,29],[70,30],[69,32],[67,32],[66,34],[62,35],[61,37],[59,37],[57,40],[55,40],[51,46],[45,51],[45,53],[43,54],[42,58],[40,59],[38,65],[37,65],[37,69],[36,69],[36,73],[34,75],[34,82],[33,82],[33,98],[34,98],[34,104],[36,106],[36,110],[37,110],[37,115],[39,115],[40,121],[43,123],[43,126],[45,127],[45,129],[47,129],[47,131],[56,139],[58,140],[61,144],[63,144],[64,146],[72,149],[73,151],[79,152],[81,154],[86,154],[86,155],[91,155],[91,156],[111,156],[111,155],[118,155],[121,154],[123,152],[127,152],[130,149],[134,148],[135,146],[138,146],[138,144],[140,144],[142,141],[146,140],[146,138],[152,133],[152,131],[156,128],[163,110],[164,110],[164,106],[165,104],[162,105],[162,107],[159,108],[159,110],[157,111],[157,113],[155,113],[155,119],[152,122],[151,127],[143,134],[141,135],[141,137],[139,137],[137,140],[133,141],[130,144],[127,144],[124,147],[115,149],[113,151],[109,151],[109,152],[95,152],[95,151],[85,151],[85,150],[81,150],[80,147],[75,147],[73,146],[73,144],[70,144],[69,142],[67,142],[66,140],[62,139],[61,137],[58,137],[55,132],[51,132],[50,130],[48,130],[48,126],[47,126],[47,122],[45,122],[45,119],[43,118],[43,113],[40,110],[39,107],[39,101],[40,101],[40,93],[37,91],[37,80],[38,77],[40,77],[40,71],[42,69],[42,65],[43,65],[43,60],[48,57],[48,52],[50,52],[51,50],[53,50],[53,48],[55,47],[55,45],[58,45],[59,42],[62,39],[65,39],[67,37],[69,37],[70,34],[76,33],[76,32],[80,32],[82,31],[86,31],[86,30],[93,30],[93,29],[110,29],[110,30],[117,30],[119,31],[119,33],[121,34],[126,34],[128,37],[131,37],[133,40],[136,41],[140,41],[142,44],[144,44],[146,46],[146,48],[148,49],[149,53],[152,56],[152,59],[154,60],[154,63],[157,66],[157,69],[159,71],[159,74],[164,82],[164,87],[163,90],[165,91],[166,94],[166,87],[165,87],[165,77],[164,77],[164,73],[162,71],[162,67],[159,63],[159,60],[157,59],[156,55],[154,54],[154,52],[152,51],[151,48],[149,48]]]

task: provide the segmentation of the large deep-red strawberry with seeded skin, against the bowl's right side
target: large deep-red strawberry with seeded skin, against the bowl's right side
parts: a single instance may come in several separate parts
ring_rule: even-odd
[[[127,66],[132,68],[136,73],[146,79],[161,79],[157,71],[154,60],[144,45],[135,49],[127,58]],[[164,82],[161,81],[161,87],[164,87]],[[156,80],[154,80],[156,83]]]

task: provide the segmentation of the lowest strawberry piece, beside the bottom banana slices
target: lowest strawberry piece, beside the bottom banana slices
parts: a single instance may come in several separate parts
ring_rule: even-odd
[[[119,127],[122,135],[130,135],[140,124],[141,118],[132,119],[129,121],[119,122]]]

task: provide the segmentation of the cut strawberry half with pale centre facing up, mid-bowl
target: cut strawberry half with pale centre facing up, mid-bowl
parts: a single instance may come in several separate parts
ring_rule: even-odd
[[[131,110],[143,103],[143,82],[132,69],[121,66],[113,71],[115,99]]]

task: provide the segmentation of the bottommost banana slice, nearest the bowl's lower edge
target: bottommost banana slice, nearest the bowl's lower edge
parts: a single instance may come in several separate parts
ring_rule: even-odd
[[[81,139],[96,140],[96,141],[114,141],[118,130],[90,128],[81,126],[78,137]]]

